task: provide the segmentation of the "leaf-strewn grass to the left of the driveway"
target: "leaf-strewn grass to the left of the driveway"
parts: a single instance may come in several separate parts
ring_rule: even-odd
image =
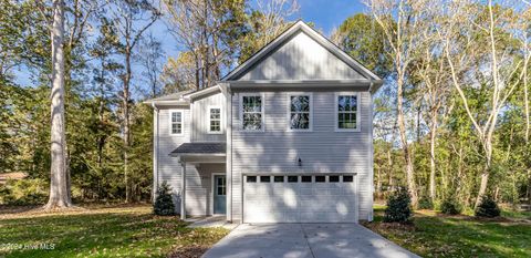
[[[0,214],[0,257],[199,257],[228,233],[186,225],[150,206]]]

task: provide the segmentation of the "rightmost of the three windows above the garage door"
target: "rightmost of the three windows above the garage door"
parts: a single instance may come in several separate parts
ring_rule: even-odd
[[[336,100],[337,130],[358,130],[358,101],[357,94],[341,94]]]

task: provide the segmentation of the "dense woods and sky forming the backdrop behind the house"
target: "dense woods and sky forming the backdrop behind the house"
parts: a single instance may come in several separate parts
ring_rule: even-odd
[[[0,204],[43,204],[51,162],[55,3],[0,1]],[[75,202],[152,195],[153,111],[214,85],[293,22],[294,0],[64,1],[65,175]],[[385,80],[374,96],[375,196],[415,206],[531,196],[531,7],[369,0],[331,38]],[[58,9],[59,10],[59,9]],[[179,54],[152,33],[166,25]],[[55,24],[55,23],[54,23]]]

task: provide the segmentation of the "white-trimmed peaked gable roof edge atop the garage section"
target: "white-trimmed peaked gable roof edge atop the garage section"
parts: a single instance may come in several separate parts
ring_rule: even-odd
[[[288,30],[285,30],[282,34],[280,34],[277,39],[271,41],[269,44],[263,47],[260,51],[249,58],[246,62],[240,64],[238,68],[232,70],[229,74],[221,79],[221,81],[236,81],[243,76],[247,72],[249,72],[253,66],[258,63],[262,62],[269,55],[273,54],[279,48],[284,45],[288,41],[290,41],[294,35],[300,32],[304,32],[305,35],[310,37],[312,40],[321,44],[324,49],[326,49],[330,53],[335,55],[346,65],[358,72],[363,75],[366,80],[374,82],[376,84],[382,83],[382,79],[379,79],[376,74],[371,72],[368,69],[363,66],[360,62],[354,60],[343,50],[341,50],[337,45],[332,43],[321,33],[309,27],[303,21],[299,20]]]

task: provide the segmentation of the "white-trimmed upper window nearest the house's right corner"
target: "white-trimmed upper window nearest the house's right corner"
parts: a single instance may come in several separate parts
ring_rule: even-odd
[[[360,94],[340,92],[335,94],[335,131],[360,132]]]

